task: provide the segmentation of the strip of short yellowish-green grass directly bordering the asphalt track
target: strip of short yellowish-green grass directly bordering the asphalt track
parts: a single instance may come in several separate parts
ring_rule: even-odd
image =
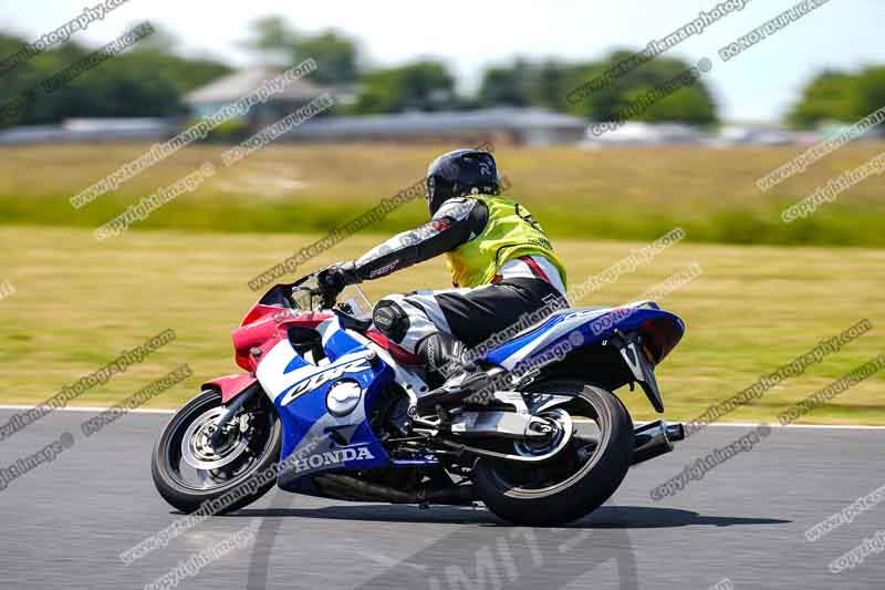
[[[173,328],[176,342],[77,404],[113,404],[188,363],[195,377],[152,405],[180,404],[200,380],[239,371],[230,330],[256,299],[247,281],[317,237],[132,230],[98,244],[82,229],[0,227],[0,282],[9,280],[17,290],[0,300],[0,402],[40,402],[123,349]],[[350,238],[304,271],[355,257],[376,239]],[[573,284],[644,245],[555,244]],[[862,318],[873,321],[870,333],[725,420],[775,421],[791,404],[885,349],[883,250],[683,242],[575,303],[635,300],[695,261],[704,273],[662,301],[687,323],[686,338],[658,369],[669,418],[695,417]],[[377,298],[447,286],[442,262],[434,260],[366,287]],[[654,416],[638,390],[622,394],[636,420]],[[804,421],[885,424],[885,375],[848,390]]]

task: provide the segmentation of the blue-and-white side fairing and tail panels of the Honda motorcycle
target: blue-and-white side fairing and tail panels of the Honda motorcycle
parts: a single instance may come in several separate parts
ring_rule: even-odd
[[[561,354],[596,344],[610,338],[615,329],[634,332],[648,320],[665,324],[663,332],[675,345],[685,329],[683,321],[656,306],[647,306],[559,311],[539,328],[490,351],[483,359],[519,371],[535,359],[550,359],[551,352]],[[274,346],[267,364],[272,373],[267,381],[279,384],[278,391],[272,387],[267,391],[272,395],[283,428],[280,460],[289,466],[279,483],[287,489],[304,493],[313,491],[311,478],[305,476],[397,466],[375,437],[367,417],[379,396],[389,390],[394,370],[363,341],[342,330],[337,320],[330,320],[317,331],[322,333],[327,364],[308,362],[288,341]],[[361,397],[352,412],[335,416],[326,407],[327,394],[333,386],[347,381],[358,384]],[[408,465],[431,463],[430,458],[407,462]]]

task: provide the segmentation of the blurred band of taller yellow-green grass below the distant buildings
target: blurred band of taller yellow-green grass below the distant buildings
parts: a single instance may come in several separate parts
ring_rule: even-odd
[[[137,158],[138,144],[0,148],[0,224],[93,229],[189,174],[205,161],[218,174],[138,224],[223,232],[329,231],[420,178],[451,146],[273,145],[220,165],[222,146],[199,145],[74,210],[67,199]],[[498,149],[510,193],[553,237],[650,240],[680,226],[697,242],[885,247],[885,180],[867,178],[815,215],[783,224],[781,210],[885,149],[843,147],[767,194],[756,180],[803,148],[574,147]],[[416,199],[368,230],[426,220]]]

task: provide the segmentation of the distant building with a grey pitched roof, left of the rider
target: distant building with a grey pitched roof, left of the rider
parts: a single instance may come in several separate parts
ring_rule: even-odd
[[[196,117],[205,117],[249,95],[260,89],[266,81],[282,73],[282,70],[269,68],[239,70],[185,94],[184,102],[190,106]],[[290,82],[281,92],[273,94],[268,102],[252,106],[247,117],[249,126],[257,131],[325,93],[332,96],[339,94],[335,89],[319,86],[308,77],[300,77]]]

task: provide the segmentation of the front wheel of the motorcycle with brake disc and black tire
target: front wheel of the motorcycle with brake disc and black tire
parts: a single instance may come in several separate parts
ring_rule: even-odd
[[[212,435],[225,407],[219,392],[206,390],[173,416],[154,446],[154,485],[166,501],[183,513],[192,513],[201,504],[226,495],[230,501],[222,501],[212,514],[237,510],[260,498],[275,483],[275,478],[266,475],[280,456],[280,421],[260,390],[240,395],[250,398],[225,432],[215,437],[215,444]]]

